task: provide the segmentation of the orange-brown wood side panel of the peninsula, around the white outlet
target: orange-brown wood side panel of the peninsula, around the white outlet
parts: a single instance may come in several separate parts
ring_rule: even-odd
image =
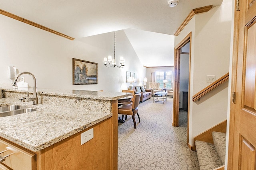
[[[37,170],[117,170],[118,103],[112,117],[36,152]],[[94,137],[81,145],[81,133],[93,128]]]

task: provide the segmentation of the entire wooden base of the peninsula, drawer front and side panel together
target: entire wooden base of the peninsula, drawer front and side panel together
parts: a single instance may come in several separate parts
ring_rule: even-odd
[[[0,140],[0,151],[12,148],[4,152],[11,155],[0,163],[0,170],[117,170],[117,100],[112,101],[112,113],[112,117],[38,152]],[[91,128],[94,137],[81,145],[81,133]]]

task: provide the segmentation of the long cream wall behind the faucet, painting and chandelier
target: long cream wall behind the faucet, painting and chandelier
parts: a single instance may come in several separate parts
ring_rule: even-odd
[[[75,39],[0,15],[0,87],[10,88],[8,66],[18,72],[29,71],[37,78],[37,87],[51,89],[104,90],[120,92],[128,89],[126,71],[136,72],[143,84],[146,68],[140,63],[124,31],[116,31],[116,60],[125,58],[124,68],[106,68],[103,58],[114,57],[114,32]],[[98,63],[98,84],[72,85],[72,58]],[[32,78],[25,76],[32,86]]]

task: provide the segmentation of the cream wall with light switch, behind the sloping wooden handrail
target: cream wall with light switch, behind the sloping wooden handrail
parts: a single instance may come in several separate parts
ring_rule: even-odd
[[[196,102],[192,96],[208,86],[207,75],[220,78],[229,71],[232,0],[209,12],[196,14],[176,37],[175,45],[192,32],[190,68],[189,143],[193,138],[227,118],[228,83]]]

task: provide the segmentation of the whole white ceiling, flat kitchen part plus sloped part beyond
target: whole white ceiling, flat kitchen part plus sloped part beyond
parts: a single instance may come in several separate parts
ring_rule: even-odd
[[[143,65],[153,66],[147,63],[152,59],[145,60],[144,57],[154,56],[158,57],[157,61],[161,61],[156,61],[154,66],[164,66],[171,63],[162,61],[173,60],[170,58],[170,50],[166,49],[170,48],[166,41],[170,35],[174,35],[190,11],[222,3],[222,0],[180,0],[176,7],[170,8],[167,1],[1,0],[0,9],[76,39],[126,29],[125,33]],[[161,41],[157,40],[156,33],[161,33],[158,34]],[[168,35],[164,37],[163,34]],[[146,44],[145,39],[148,42]]]

